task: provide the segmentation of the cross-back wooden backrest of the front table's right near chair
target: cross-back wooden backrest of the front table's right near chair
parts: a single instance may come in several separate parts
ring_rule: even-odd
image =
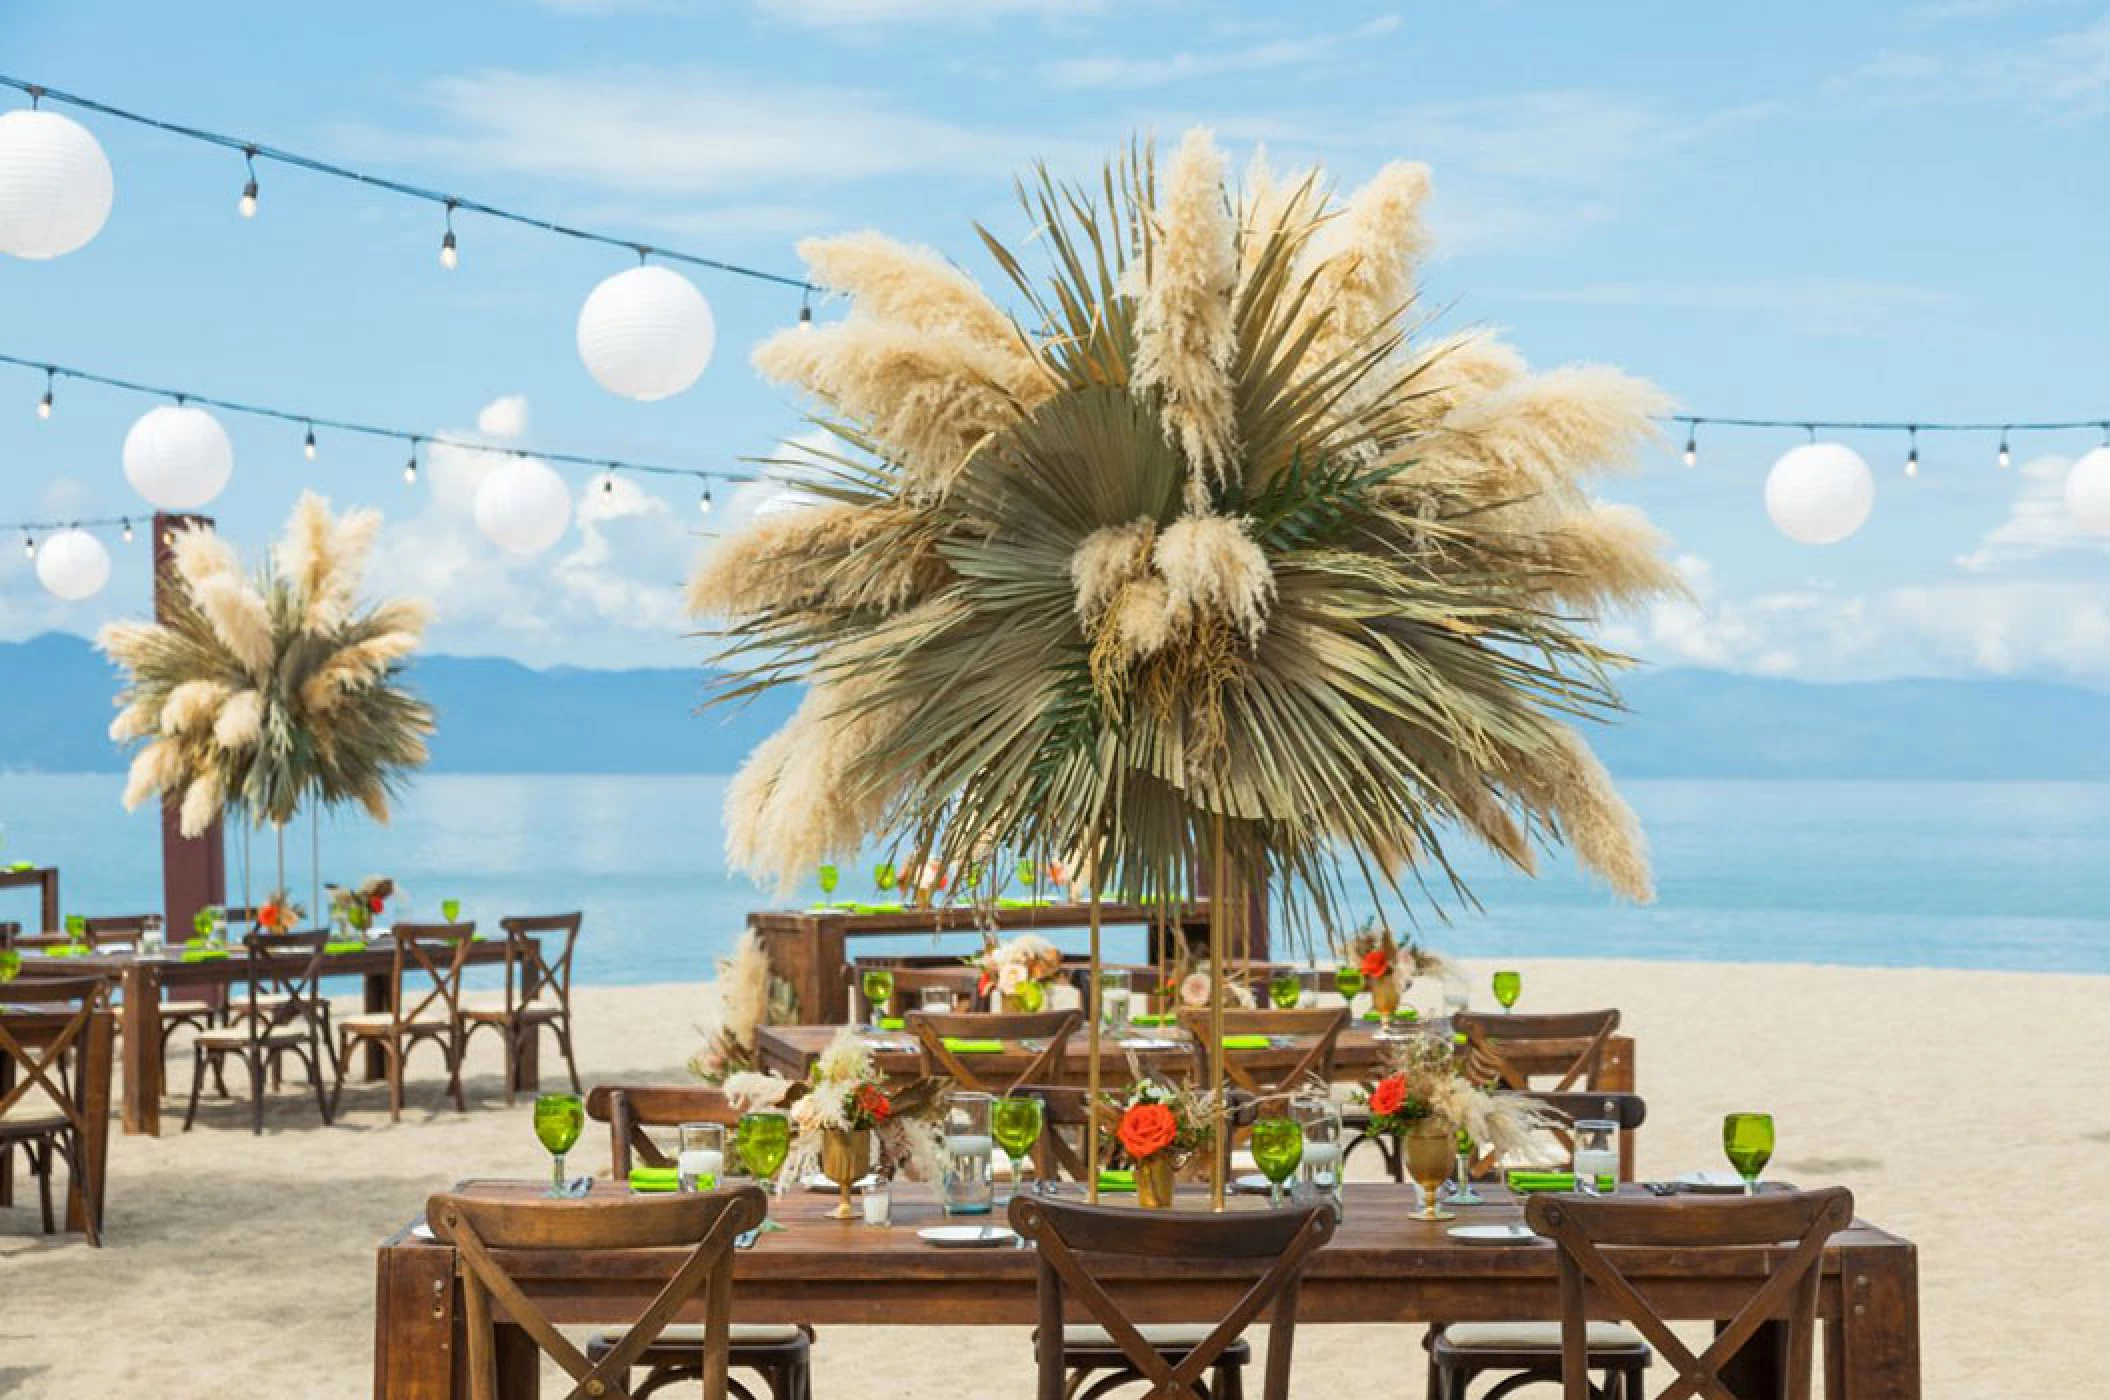
[[[1631,1322],[1677,1377],[1658,1400],[1737,1400],[1722,1383],[1722,1366],[1775,1318],[1787,1320],[1787,1400],[1808,1400],[1810,1356],[1817,1335],[1817,1284],[1825,1242],[1853,1223],[1853,1191],[1781,1191],[1749,1198],[1604,1198],[1534,1195],[1526,1223],[1561,1250],[1561,1385],[1566,1400],[1587,1400],[1589,1316]],[[1781,1244],[1791,1248],[1779,1250]],[[1764,1280],[1753,1284],[1737,1316],[1720,1326],[1694,1356],[1669,1322],[1618,1267],[1629,1248],[1768,1250]],[[1688,1267],[1690,1271],[1690,1267]],[[1593,1295],[1597,1303],[1593,1307]]]

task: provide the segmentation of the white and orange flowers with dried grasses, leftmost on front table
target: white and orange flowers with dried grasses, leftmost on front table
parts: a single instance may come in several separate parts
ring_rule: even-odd
[[[806,1080],[766,1073],[726,1077],[726,1098],[741,1109],[783,1107],[791,1120],[785,1179],[798,1181],[821,1162],[829,1132],[871,1132],[880,1145],[880,1174],[937,1181],[945,1172],[945,1136],[939,1111],[945,1080],[914,1080],[893,1092],[871,1061],[871,1050],[844,1027],[812,1063]]]

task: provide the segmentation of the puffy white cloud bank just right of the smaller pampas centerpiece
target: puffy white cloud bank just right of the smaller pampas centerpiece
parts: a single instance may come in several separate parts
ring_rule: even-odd
[[[509,401],[485,407],[479,422]],[[525,403],[496,417],[525,417]],[[376,590],[433,599],[430,647],[504,654],[530,664],[679,664],[682,582],[696,555],[698,519],[639,483],[574,479],[574,529],[542,555],[519,559],[475,525],[477,485],[502,458],[435,443],[420,483],[422,508],[382,529]]]

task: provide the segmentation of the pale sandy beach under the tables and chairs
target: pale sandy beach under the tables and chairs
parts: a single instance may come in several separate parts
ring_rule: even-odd
[[[1768,1174],[1850,1185],[1863,1217],[1918,1244],[1929,1396],[2085,1396],[2110,1370],[2110,1330],[2091,1322],[2110,1314],[2110,1195],[2089,1189],[2110,1147],[2110,1067],[2095,1044],[2106,978],[1517,966],[1521,1010],[1625,1012],[1650,1105],[1644,1177],[1720,1168],[1722,1113],[1770,1109],[1781,1145]],[[682,985],[582,991],[587,1082],[679,1080],[692,1002]],[[504,1107],[496,1042],[471,1054],[466,1115],[443,1103],[439,1058],[424,1054],[401,1126],[378,1088],[348,1088],[335,1128],[287,1090],[264,1139],[249,1136],[245,1107],[211,1101],[190,1134],[112,1136],[103,1250],[38,1236],[34,1191],[30,1210],[0,1217],[0,1394],[371,1394],[376,1240],[454,1179],[546,1168],[525,1103]],[[181,1042],[175,1058],[188,1067]],[[574,1162],[606,1172],[606,1136],[589,1134]],[[819,1394],[1030,1389],[1023,1330],[907,1341],[825,1328]],[[1374,1352],[1369,1328],[1300,1330],[1298,1392],[1418,1394],[1418,1333],[1386,1343]]]

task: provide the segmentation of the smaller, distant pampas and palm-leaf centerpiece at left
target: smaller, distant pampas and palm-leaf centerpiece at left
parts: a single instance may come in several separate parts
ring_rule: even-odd
[[[433,708],[403,685],[426,605],[359,601],[380,525],[373,510],[333,517],[304,493],[253,578],[215,531],[175,531],[162,618],[112,622],[99,639],[124,675],[110,738],[137,744],[127,810],[175,801],[186,837],[241,810],[279,833],[279,890],[285,824],[304,803],[388,820],[426,759]]]

